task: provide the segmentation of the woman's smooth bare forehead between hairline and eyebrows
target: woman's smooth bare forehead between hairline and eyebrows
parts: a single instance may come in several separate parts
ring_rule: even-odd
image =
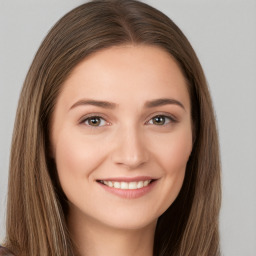
[[[187,104],[186,80],[174,58],[165,50],[147,45],[121,45],[100,50],[82,62],[64,82],[60,98],[104,98],[125,102],[163,96]]]

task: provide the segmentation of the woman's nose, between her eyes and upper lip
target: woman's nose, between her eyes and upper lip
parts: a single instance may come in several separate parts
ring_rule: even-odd
[[[136,169],[149,160],[146,141],[139,129],[126,128],[119,131],[114,144],[112,160],[115,164]]]

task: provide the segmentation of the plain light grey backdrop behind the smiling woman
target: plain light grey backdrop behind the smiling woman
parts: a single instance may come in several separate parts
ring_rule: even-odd
[[[12,129],[25,75],[52,25],[84,2],[0,0],[0,241],[5,235]],[[255,256],[256,0],[144,2],[163,11],[181,28],[209,83],[222,157],[222,253]]]

